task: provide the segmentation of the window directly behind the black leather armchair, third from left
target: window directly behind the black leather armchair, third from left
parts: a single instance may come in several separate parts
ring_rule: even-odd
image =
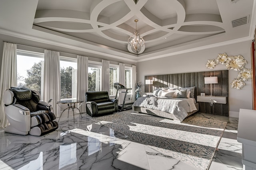
[[[88,92],[101,90],[101,63],[88,63]]]

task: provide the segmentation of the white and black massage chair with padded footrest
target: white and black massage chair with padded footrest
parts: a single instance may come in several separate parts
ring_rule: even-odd
[[[4,92],[4,110],[10,123],[5,132],[41,136],[58,128],[51,105],[40,101],[40,94],[28,88],[14,88]]]

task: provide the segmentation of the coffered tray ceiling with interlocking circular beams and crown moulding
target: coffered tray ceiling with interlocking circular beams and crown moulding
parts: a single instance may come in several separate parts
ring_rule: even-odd
[[[0,34],[137,62],[253,39],[255,3],[1,0]],[[145,40],[140,55],[128,51],[127,40],[135,31],[135,19],[137,31]]]

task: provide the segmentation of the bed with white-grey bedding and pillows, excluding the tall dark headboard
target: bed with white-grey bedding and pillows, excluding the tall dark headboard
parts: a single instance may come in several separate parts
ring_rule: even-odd
[[[195,87],[160,88],[154,90],[152,95],[138,98],[132,105],[132,109],[182,122],[199,109],[199,104],[194,98],[194,89]]]

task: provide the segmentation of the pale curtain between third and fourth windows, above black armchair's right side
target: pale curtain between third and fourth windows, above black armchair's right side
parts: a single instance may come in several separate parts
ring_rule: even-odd
[[[101,89],[102,91],[108,91],[109,93],[109,61],[102,60],[102,78],[101,78]]]

